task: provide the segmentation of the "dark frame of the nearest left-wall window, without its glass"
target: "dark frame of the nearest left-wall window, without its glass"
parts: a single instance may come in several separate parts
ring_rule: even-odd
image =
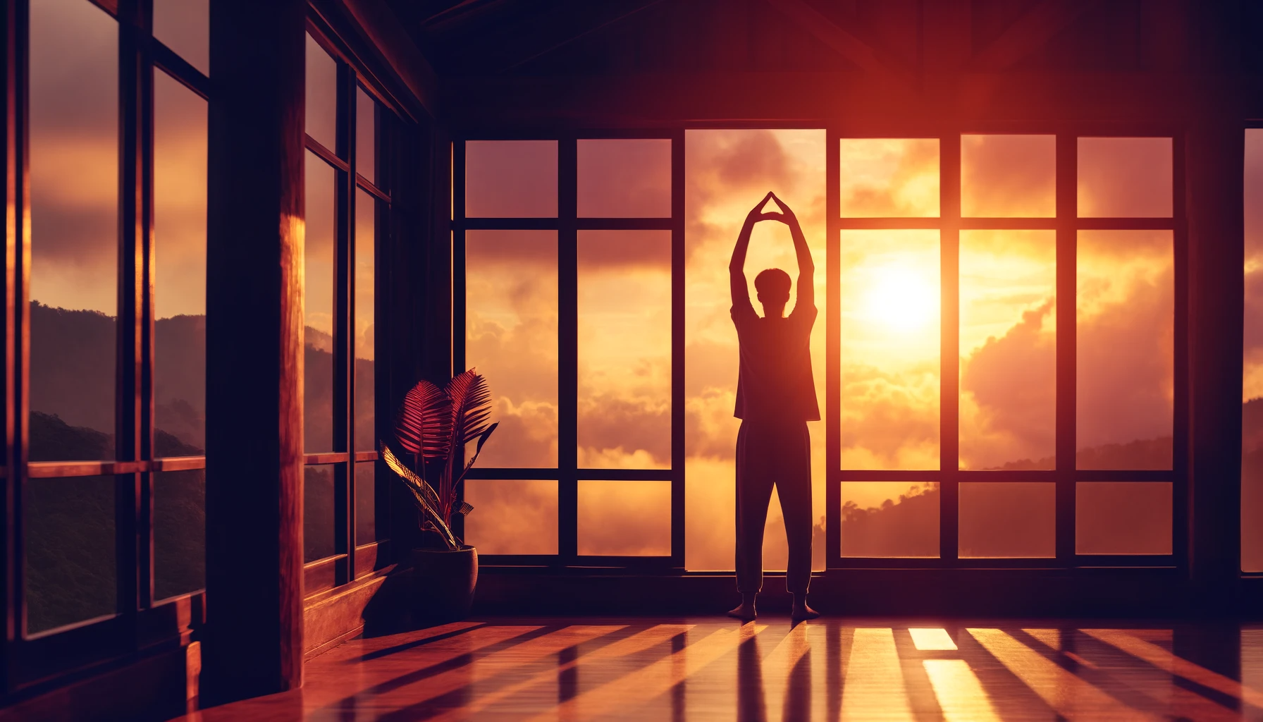
[[[85,0],[88,1],[88,0]],[[206,468],[206,456],[155,458],[153,454],[154,365],[154,73],[165,72],[203,100],[210,80],[152,35],[152,4],[93,5],[114,18],[119,32],[119,293],[115,368],[115,454],[112,460],[28,462],[29,388],[29,150],[28,48],[29,0],[8,4],[4,16],[8,89],[6,186],[16,212],[6,235],[9,273],[4,293],[15,317],[5,316],[9,360],[4,395],[6,463],[4,464],[4,606],[10,630],[4,655],[3,690],[39,689],[67,670],[131,654],[196,623],[205,590],[154,598],[153,474]],[[138,350],[139,349],[139,350]],[[115,612],[39,632],[27,631],[24,492],[30,479],[115,478]],[[179,632],[179,633],[187,633]]]

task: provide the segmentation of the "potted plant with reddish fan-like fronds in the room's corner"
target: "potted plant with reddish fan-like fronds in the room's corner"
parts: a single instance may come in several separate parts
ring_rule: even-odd
[[[474,511],[460,501],[460,486],[498,426],[489,424],[490,416],[491,391],[474,369],[443,388],[421,381],[404,396],[395,420],[400,454],[385,441],[380,444],[383,460],[412,493],[421,529],[433,532],[428,536],[437,536],[441,544],[413,549],[408,559],[417,580],[413,608],[427,620],[464,618],[474,602],[477,550],[452,532],[452,517]],[[475,444],[474,454],[461,459],[470,444]]]

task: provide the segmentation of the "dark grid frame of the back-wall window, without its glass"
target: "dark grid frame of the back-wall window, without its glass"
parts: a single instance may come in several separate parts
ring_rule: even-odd
[[[501,566],[541,572],[585,569],[600,573],[666,573],[685,570],[685,439],[683,439],[683,225],[685,225],[685,132],[702,128],[822,129],[826,152],[826,572],[863,569],[1043,569],[1075,570],[1109,566],[1186,569],[1188,530],[1181,520],[1188,513],[1188,243],[1185,212],[1185,130],[1168,124],[1091,123],[994,123],[938,128],[849,128],[839,123],[817,124],[705,124],[671,129],[611,129],[577,132],[501,132],[453,134],[452,143],[452,359],[465,368],[465,231],[466,230],[557,230],[558,238],[558,468],[475,468],[470,479],[557,479],[558,554],[482,555],[489,568]],[[1056,138],[1056,215],[1052,217],[965,217],[960,215],[960,148],[964,134],[1024,134]],[[1170,217],[1079,217],[1079,138],[1170,138],[1172,140],[1172,215]],[[671,219],[580,219],[575,215],[576,140],[587,138],[671,138]],[[839,140],[844,138],[935,138],[940,144],[940,212],[933,217],[842,217],[840,212]],[[557,217],[465,217],[466,140],[557,140]],[[669,224],[667,223],[669,220]],[[576,231],[581,229],[667,229],[672,236],[672,467],[669,470],[578,469],[573,464],[576,408]],[[940,231],[940,468],[916,472],[874,472],[841,468],[840,425],[840,236],[850,229],[933,229]],[[1057,245],[1057,392],[1056,469],[1041,472],[981,472],[959,469],[959,344],[960,344],[960,231],[1053,230]],[[1076,377],[1076,248],[1080,230],[1170,230],[1175,262],[1175,408],[1172,416],[1173,456],[1171,470],[1079,470],[1075,468],[1075,377]],[[570,449],[571,451],[566,451]],[[567,459],[568,456],[568,459]],[[578,479],[644,479],[672,482],[671,558],[580,556],[576,545]],[[935,559],[844,558],[841,555],[841,482],[895,480],[940,484],[940,556]],[[961,482],[1051,482],[1056,484],[1056,556],[1048,559],[960,559],[959,484]],[[1081,555],[1075,549],[1075,496],[1079,482],[1168,482],[1172,484],[1172,554],[1170,555]],[[461,520],[462,521],[462,520]],[[457,522],[460,523],[460,522]],[[460,529],[457,530],[460,531]],[[687,572],[712,575],[711,572]]]

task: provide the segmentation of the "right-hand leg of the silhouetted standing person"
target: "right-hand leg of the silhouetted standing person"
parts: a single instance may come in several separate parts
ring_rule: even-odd
[[[793,594],[793,617],[805,620],[817,616],[807,606],[807,585],[811,583],[811,435],[806,422],[787,425],[781,441],[781,463],[777,494],[781,497],[781,516],[786,523],[789,559],[786,569],[786,590]]]

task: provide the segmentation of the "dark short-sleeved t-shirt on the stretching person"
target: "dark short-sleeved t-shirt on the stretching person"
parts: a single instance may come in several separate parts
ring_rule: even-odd
[[[757,421],[820,421],[811,376],[813,305],[796,305],[784,319],[763,319],[749,300],[733,306],[741,348],[733,416]]]

